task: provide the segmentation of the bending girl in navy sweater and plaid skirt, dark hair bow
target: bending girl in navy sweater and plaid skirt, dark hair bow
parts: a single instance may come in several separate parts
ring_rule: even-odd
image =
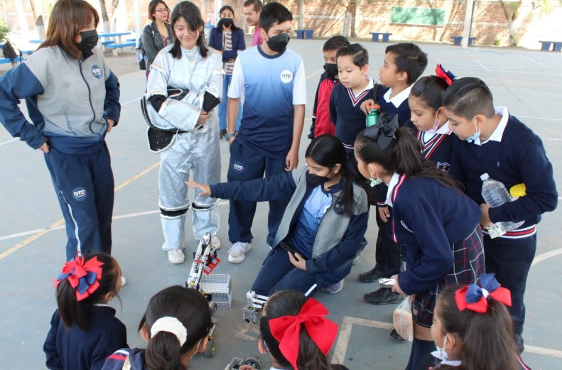
[[[406,271],[391,276],[392,290],[415,295],[406,370],[428,369],[436,349],[430,328],[438,295],[448,285],[474,283],[484,271],[480,210],[448,174],[423,158],[411,130],[396,123],[365,129],[355,141],[355,157],[372,185],[389,185],[392,236],[408,250]]]

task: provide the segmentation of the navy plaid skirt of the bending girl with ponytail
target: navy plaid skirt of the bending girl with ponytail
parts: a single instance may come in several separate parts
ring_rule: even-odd
[[[480,225],[477,225],[468,238],[451,244],[455,257],[453,267],[435,288],[416,294],[412,304],[412,310],[417,311],[417,314],[414,313],[414,322],[423,327],[431,327],[433,310],[441,292],[449,285],[475,283],[485,273],[483,246]]]

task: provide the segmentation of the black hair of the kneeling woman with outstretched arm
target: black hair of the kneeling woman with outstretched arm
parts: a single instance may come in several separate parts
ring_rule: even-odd
[[[345,148],[339,138],[330,134],[316,136],[305,153],[306,158],[311,158],[319,165],[330,168],[340,163],[342,174],[342,197],[341,205],[345,216],[351,217],[355,197],[353,196],[353,183],[362,187],[367,192],[367,183],[357,171],[357,166],[347,158]]]

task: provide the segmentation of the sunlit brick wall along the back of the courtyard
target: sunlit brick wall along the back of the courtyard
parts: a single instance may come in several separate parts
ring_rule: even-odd
[[[16,34],[20,30],[16,7],[13,1],[6,0],[5,16],[8,25]],[[90,0],[92,5],[99,11],[99,1]],[[179,0],[168,0],[166,4],[173,9]],[[369,32],[381,31],[392,33],[391,40],[433,41],[451,42],[450,36],[462,36],[465,19],[465,0],[356,0],[348,8],[348,1],[343,0],[303,0],[304,28],[314,30],[315,37],[330,37],[342,34],[346,9],[352,16],[350,22],[350,34],[348,36],[357,38],[370,38]],[[33,22],[33,14],[28,1],[23,2],[23,10],[28,29],[34,38],[36,27]],[[43,0],[43,14],[45,24],[48,22],[49,5],[48,0]],[[106,0],[109,7],[111,1]],[[141,22],[148,23],[148,2],[141,0]],[[205,22],[216,23],[214,0],[193,0],[202,12]],[[295,16],[294,28],[298,28],[301,15],[299,14],[300,0],[279,0]],[[234,8],[234,22],[244,31],[249,30],[244,21],[242,5],[244,0],[222,1]],[[357,6],[357,9],[356,9]],[[445,24],[443,26],[414,26],[390,23],[392,6],[411,6],[445,9]],[[111,9],[108,9],[110,12]],[[471,36],[476,37],[475,43],[480,45],[509,45],[509,30],[502,6],[497,1],[475,1],[474,21],[472,23]],[[357,15],[357,18],[356,18]],[[114,31],[125,31],[134,29],[134,1],[120,0],[119,6],[114,14],[109,14],[114,19],[112,29]],[[558,6],[546,13],[543,9],[534,8],[534,3],[524,2],[519,9],[519,17],[514,22],[515,35],[518,45],[531,49],[540,48],[540,40],[560,39],[562,36],[562,7]],[[100,28],[101,29],[101,28]],[[22,36],[22,39],[25,36]]]

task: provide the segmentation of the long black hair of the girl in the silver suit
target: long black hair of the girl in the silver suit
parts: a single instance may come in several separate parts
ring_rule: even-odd
[[[173,42],[173,48],[170,50],[173,58],[181,59],[182,56],[181,43],[180,40],[178,40],[178,36],[175,36],[174,28],[175,22],[177,22],[180,18],[183,18],[185,23],[188,23],[190,31],[197,31],[198,29],[201,29],[197,39],[197,45],[199,46],[200,55],[205,58],[209,53],[209,49],[207,49],[207,44],[205,43],[205,32],[203,32],[205,21],[203,21],[201,11],[197,5],[191,3],[190,1],[180,1],[173,7],[171,24],[175,40]]]

